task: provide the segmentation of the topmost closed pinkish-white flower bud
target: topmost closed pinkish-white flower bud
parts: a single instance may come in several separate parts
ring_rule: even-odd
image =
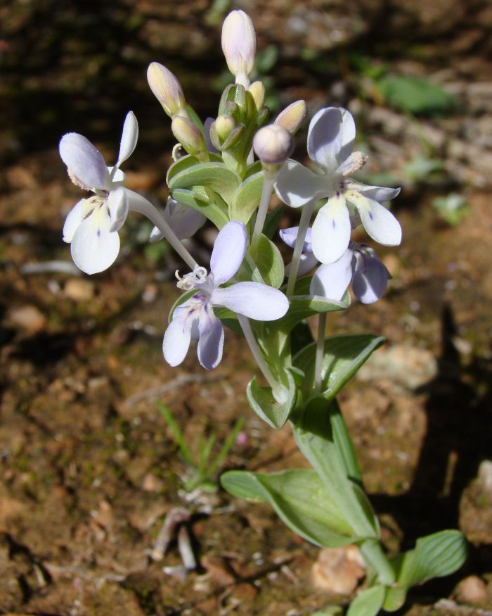
[[[251,18],[244,11],[231,11],[222,25],[222,51],[235,82],[247,87],[254,68],[257,34]]]

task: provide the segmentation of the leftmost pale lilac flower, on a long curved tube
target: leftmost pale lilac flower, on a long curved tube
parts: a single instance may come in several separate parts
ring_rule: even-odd
[[[131,201],[139,196],[124,188],[119,165],[129,158],[138,139],[138,124],[132,111],[124,120],[118,160],[107,167],[89,139],[77,132],[60,141],[60,156],[74,184],[94,194],[81,199],[70,210],[63,226],[63,240],[71,244],[75,265],[86,274],[109,268],[119,253],[117,231],[127,218]]]

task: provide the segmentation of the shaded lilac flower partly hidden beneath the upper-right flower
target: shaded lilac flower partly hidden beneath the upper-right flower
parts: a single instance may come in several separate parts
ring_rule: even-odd
[[[294,246],[298,230],[299,227],[291,227],[280,231],[280,237],[287,246]],[[307,274],[317,263],[311,246],[311,229],[308,229],[299,263],[299,276]],[[373,303],[384,295],[390,278],[387,268],[370,246],[351,241],[335,263],[326,263],[316,270],[310,292],[311,295],[340,301],[351,283],[358,301]]]

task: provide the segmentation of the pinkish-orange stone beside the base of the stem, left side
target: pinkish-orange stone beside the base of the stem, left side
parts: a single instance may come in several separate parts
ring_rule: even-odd
[[[323,548],[311,570],[317,590],[344,596],[350,596],[364,576],[364,561],[356,546]]]

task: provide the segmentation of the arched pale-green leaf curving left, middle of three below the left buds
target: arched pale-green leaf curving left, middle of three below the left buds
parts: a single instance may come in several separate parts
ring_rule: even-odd
[[[169,177],[168,172],[167,180],[167,185],[171,191],[176,188],[190,189],[194,186],[205,186],[216,191],[227,203],[231,203],[240,183],[241,179],[238,173],[224,163],[200,163],[188,167],[172,177]]]

